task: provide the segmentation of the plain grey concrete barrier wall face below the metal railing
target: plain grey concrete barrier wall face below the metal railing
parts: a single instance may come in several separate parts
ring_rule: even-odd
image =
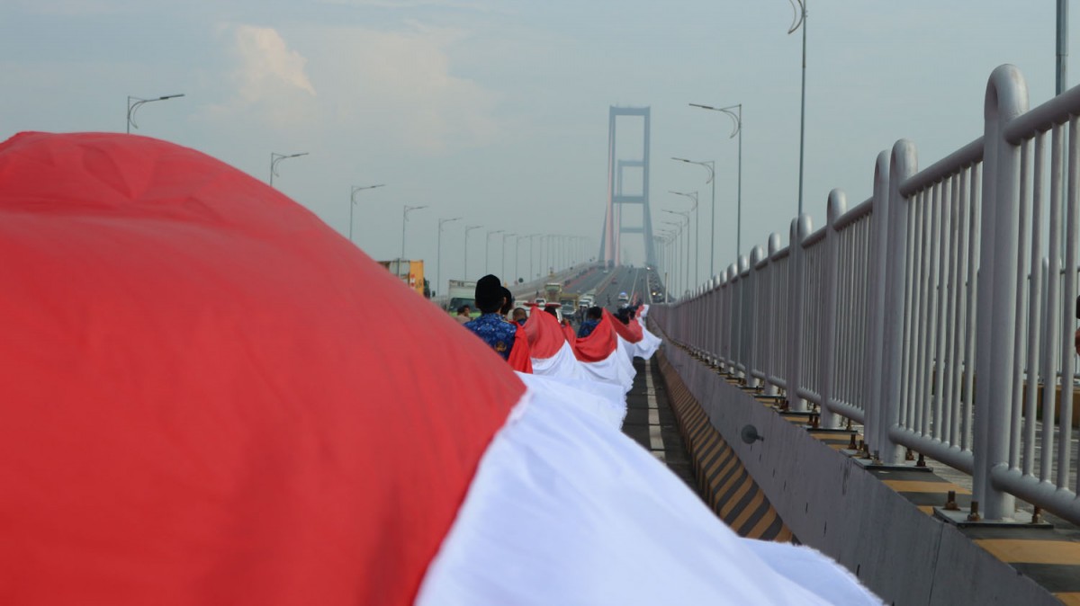
[[[799,541],[847,566],[887,603],[1061,604],[685,350],[670,342],[664,347]],[[740,431],[746,424],[756,426],[765,441],[744,443]]]

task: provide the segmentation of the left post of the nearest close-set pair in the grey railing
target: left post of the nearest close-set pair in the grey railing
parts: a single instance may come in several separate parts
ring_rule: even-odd
[[[877,162],[874,164],[874,202],[870,204],[874,210],[870,215],[874,258],[870,261],[869,272],[869,373],[866,377],[869,381],[869,400],[866,402],[865,432],[870,447],[878,452],[881,463],[894,465],[900,463],[900,449],[889,439],[889,424],[883,419],[885,405],[881,385],[885,383],[882,375],[885,370],[885,327],[886,327],[886,287],[889,276],[889,248],[892,234],[890,233],[889,214],[889,152],[878,153]],[[905,236],[906,237],[906,236]],[[906,239],[905,239],[906,243]],[[903,284],[901,281],[900,284]],[[901,326],[903,322],[901,321]]]

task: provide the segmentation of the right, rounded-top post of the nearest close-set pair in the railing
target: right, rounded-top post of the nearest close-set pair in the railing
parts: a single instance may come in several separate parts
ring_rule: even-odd
[[[889,160],[889,237],[885,273],[885,318],[881,341],[881,382],[878,384],[877,450],[882,463],[895,463],[896,443],[890,430],[900,423],[900,390],[904,361],[905,315],[912,311],[904,305],[904,284],[907,275],[907,218],[910,203],[900,193],[903,182],[918,171],[915,143],[900,139],[892,146]],[[877,209],[874,210],[877,214]],[[889,458],[891,460],[886,460]]]

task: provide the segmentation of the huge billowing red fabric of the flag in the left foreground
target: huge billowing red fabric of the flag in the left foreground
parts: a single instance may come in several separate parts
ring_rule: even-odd
[[[0,143],[0,258],[3,603],[409,604],[524,392],[314,215],[159,140]]]

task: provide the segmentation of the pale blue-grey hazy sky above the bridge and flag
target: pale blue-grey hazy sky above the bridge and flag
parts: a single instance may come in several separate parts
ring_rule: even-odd
[[[690,207],[669,191],[699,192],[700,284],[707,170],[670,159],[716,163],[719,273],[735,258],[738,137],[726,115],[688,104],[742,104],[741,252],[772,232],[786,243],[798,208],[794,14],[784,0],[4,0],[0,137],[122,133],[129,96],[183,93],[141,106],[133,133],[260,180],[271,153],[306,152],[278,164],[274,187],[342,237],[352,188],[384,184],[355,194],[353,242],[376,259],[404,244],[441,291],[465,276],[470,225],[471,279],[504,261],[507,274],[529,271],[528,239],[515,259],[507,238],[503,258],[502,234],[488,232],[579,236],[595,256],[609,107],[649,107],[653,225],[670,228],[661,209]],[[1052,0],[812,0],[807,27],[804,212],[814,226],[834,188],[849,207],[870,195],[877,154],[897,139],[929,166],[978,137],[995,67],[1020,68],[1031,107],[1054,94]],[[426,208],[409,214],[403,243],[406,205]],[[438,219],[457,217],[440,237]],[[624,236],[625,262],[644,262],[639,240]]]

